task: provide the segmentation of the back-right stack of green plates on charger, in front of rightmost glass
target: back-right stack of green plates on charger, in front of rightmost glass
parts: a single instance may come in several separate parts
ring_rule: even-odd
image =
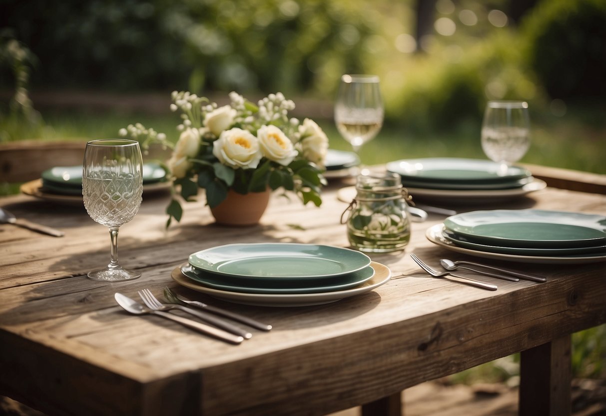
[[[506,172],[488,160],[462,158],[405,159],[387,163],[398,173],[413,198],[447,201],[481,201],[511,198],[543,189],[546,184],[533,178],[523,167]]]

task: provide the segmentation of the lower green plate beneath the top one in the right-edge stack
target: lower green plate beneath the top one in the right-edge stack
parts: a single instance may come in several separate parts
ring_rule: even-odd
[[[519,254],[519,255],[533,255],[533,256],[563,256],[563,255],[606,255],[606,246],[597,247],[573,247],[567,249],[537,249],[528,247],[499,247],[489,246],[487,244],[473,243],[473,241],[467,240],[467,238],[457,235],[447,229],[444,229],[444,238],[452,241],[459,247],[465,247],[467,249],[485,251],[490,253],[506,253],[506,254]]]

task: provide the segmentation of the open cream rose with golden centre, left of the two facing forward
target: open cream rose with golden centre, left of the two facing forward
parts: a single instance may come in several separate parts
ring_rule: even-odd
[[[213,142],[213,155],[227,166],[255,169],[262,158],[259,141],[247,130],[225,130]]]

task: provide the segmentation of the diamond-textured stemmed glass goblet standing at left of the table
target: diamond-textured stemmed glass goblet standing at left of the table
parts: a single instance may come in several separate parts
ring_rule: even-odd
[[[143,160],[139,143],[126,139],[89,141],[84,150],[82,196],[88,215],[110,229],[112,252],[105,269],[88,272],[95,280],[132,280],[138,270],[118,263],[118,229],[132,220],[141,206]]]

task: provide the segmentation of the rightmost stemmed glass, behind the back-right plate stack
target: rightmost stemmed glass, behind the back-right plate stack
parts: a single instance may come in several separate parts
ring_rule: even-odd
[[[488,101],[482,123],[482,149],[507,172],[530,147],[530,116],[525,101]]]

